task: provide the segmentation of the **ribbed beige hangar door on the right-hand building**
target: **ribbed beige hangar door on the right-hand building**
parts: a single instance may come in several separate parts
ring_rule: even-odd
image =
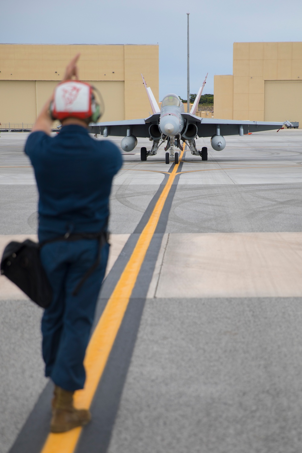
[[[302,127],[302,80],[265,80],[264,121],[286,120]]]

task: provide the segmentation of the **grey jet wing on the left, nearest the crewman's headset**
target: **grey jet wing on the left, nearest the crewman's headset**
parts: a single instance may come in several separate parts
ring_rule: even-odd
[[[108,137],[115,135],[117,137],[125,137],[127,130],[130,129],[130,134],[135,137],[150,137],[149,126],[151,123],[159,123],[160,113],[154,113],[148,118],[140,118],[139,120],[122,120],[122,121],[105,121],[102,123],[91,123],[91,132],[101,134]]]

